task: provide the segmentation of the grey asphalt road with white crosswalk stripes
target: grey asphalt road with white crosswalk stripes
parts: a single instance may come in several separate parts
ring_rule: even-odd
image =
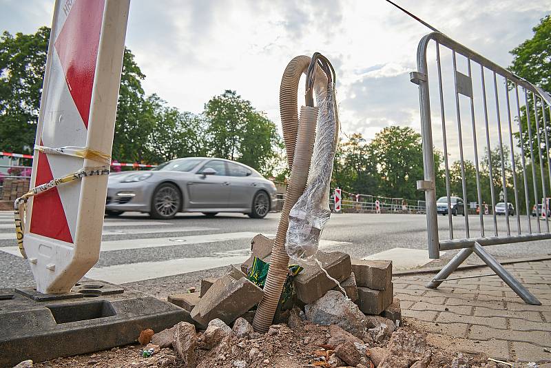
[[[248,256],[255,234],[273,236],[280,214],[264,219],[242,214],[207,218],[196,214],[180,214],[173,220],[154,221],[144,214],[127,212],[118,218],[106,218],[100,260],[87,274],[90,278],[121,283],[164,298],[172,292],[199,286],[200,279],[219,276],[227,265],[239,264]],[[448,235],[448,219],[439,216],[442,239]],[[470,216],[472,234],[478,234],[479,219]],[[10,212],[0,212],[0,288],[34,285],[25,260],[17,255],[11,237]],[[522,219],[526,226],[526,217]],[[492,233],[492,216],[484,216],[486,231]],[[465,236],[463,216],[453,218],[455,237]],[[542,229],[545,222],[540,221]],[[505,218],[498,218],[498,229],[506,229]],[[532,227],[535,229],[535,220]],[[512,232],[516,219],[511,219]],[[406,254],[406,258],[426,258],[426,265],[442,265],[455,254],[446,252],[440,260],[428,263],[426,252],[426,218],[415,214],[332,214],[322,234],[324,251],[340,251],[356,258],[380,252]],[[412,252],[395,248],[420,249]],[[487,247],[497,258],[517,258],[551,254],[551,241],[517,243]],[[479,263],[475,256],[469,263]],[[397,261],[399,265],[399,260]],[[404,266],[407,268],[406,266]]]

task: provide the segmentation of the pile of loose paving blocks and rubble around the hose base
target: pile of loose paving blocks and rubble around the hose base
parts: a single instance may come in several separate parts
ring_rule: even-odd
[[[228,367],[272,367],[278,359],[273,347],[281,352],[285,338],[291,346],[295,345],[293,338],[300,338],[300,345],[312,345],[309,351],[288,352],[299,354],[295,363],[306,362],[306,367],[397,367],[387,354],[393,345],[391,336],[402,321],[399,300],[393,299],[389,260],[355,260],[342,252],[318,252],[316,258],[340,285],[317,265],[300,264],[304,269],[293,278],[291,303],[278,311],[267,334],[253,331],[254,309],[264,292],[247,278],[247,272],[254,257],[269,263],[272,244],[256,236],[251,258],[241,269],[229,266],[220,278],[202,279],[199,291],[192,288],[169,296],[168,301],[185,309],[189,318],[154,334],[152,343],[174,347],[185,367],[202,366],[203,361],[220,367],[226,363]],[[400,335],[396,336],[399,340]],[[415,339],[423,341],[418,336]],[[266,351],[267,346],[272,350]],[[249,355],[241,363],[238,354],[243,349]],[[423,359],[416,356],[406,366]]]

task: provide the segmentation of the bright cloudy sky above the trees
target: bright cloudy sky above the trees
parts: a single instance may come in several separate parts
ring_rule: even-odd
[[[550,0],[397,0],[428,23],[507,66],[532,36]],[[51,25],[54,1],[0,0],[9,32]],[[146,74],[148,94],[201,112],[211,96],[237,90],[279,124],[285,65],[315,51],[337,72],[342,130],[370,139],[388,125],[420,130],[415,70],[419,39],[430,32],[384,0],[132,0],[127,46]]]

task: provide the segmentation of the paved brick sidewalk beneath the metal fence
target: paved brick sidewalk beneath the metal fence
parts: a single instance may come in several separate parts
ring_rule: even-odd
[[[551,260],[505,267],[542,305],[523,303],[497,276],[450,280],[438,289],[425,288],[434,274],[395,276],[406,323],[432,333],[431,343],[457,351],[509,362],[551,362]],[[450,278],[491,273],[484,267]]]

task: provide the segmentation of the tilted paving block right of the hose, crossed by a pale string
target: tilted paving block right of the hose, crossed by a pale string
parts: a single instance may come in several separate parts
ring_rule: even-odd
[[[350,256],[342,252],[318,252],[318,260],[327,273],[340,283],[352,274]],[[309,304],[318,300],[336,285],[316,264],[299,263],[304,270],[294,279],[295,292],[302,303]]]

